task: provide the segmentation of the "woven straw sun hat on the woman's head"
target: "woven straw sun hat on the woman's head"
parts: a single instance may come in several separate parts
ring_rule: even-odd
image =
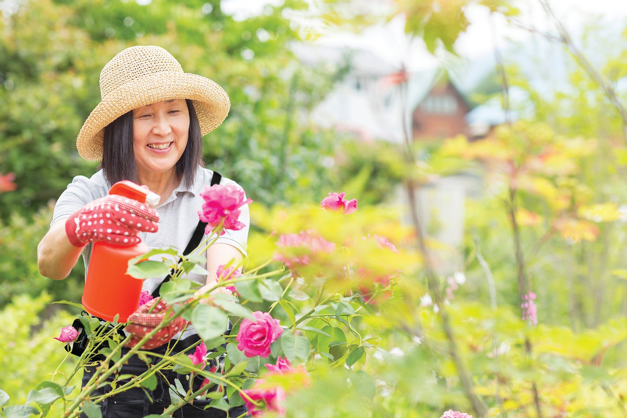
[[[194,103],[201,135],[214,130],[229,113],[226,91],[209,78],[184,73],[181,64],[159,46],[132,46],[100,72],[102,101],[92,110],[76,138],[78,154],[102,160],[104,128],[138,107],[172,98]]]

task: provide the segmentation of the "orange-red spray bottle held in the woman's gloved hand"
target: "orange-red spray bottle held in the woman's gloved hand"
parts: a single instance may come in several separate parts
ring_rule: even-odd
[[[157,206],[160,199],[158,194],[129,180],[113,184],[109,194],[128,197],[151,207]],[[148,250],[142,241],[133,246],[102,241],[94,243],[83,290],[85,310],[107,321],[113,321],[115,315],[119,315],[118,322],[126,322],[137,310],[144,283],[144,280],[126,274],[129,260]]]

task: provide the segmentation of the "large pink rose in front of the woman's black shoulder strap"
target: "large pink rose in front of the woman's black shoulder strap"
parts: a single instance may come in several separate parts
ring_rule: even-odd
[[[232,184],[215,184],[205,186],[200,196],[204,199],[204,203],[203,210],[198,211],[198,217],[201,221],[207,222],[205,234],[209,234],[211,229],[223,220],[223,234],[226,229],[238,231],[244,227],[244,224],[238,221],[241,214],[240,207],[251,203],[252,200],[246,199],[246,193],[242,189]]]

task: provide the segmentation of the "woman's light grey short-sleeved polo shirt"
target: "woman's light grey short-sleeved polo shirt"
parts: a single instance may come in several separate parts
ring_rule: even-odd
[[[168,197],[161,206],[156,208],[159,213],[159,231],[156,233],[139,233],[139,237],[148,248],[153,249],[164,246],[174,246],[178,248],[179,251],[185,249],[194,229],[196,229],[196,225],[198,225],[198,211],[201,210],[203,206],[203,198],[199,196],[199,193],[204,190],[206,185],[211,184],[212,176],[213,171],[199,166],[198,169],[196,169],[196,177],[194,177],[194,184],[192,184],[191,187],[184,187],[181,182],[179,187],[174,189],[171,196]],[[220,184],[231,184],[240,187],[236,182],[226,177],[222,177]],[[89,179],[84,175],[77,175],[72,182],[68,184],[67,189],[61,194],[58,201],[56,201],[55,211],[53,212],[50,225],[60,219],[69,217],[89,202],[99,197],[106,196],[110,187],[111,185],[108,184],[102,170],[96,172],[96,174],[92,175]],[[229,244],[239,249],[241,253],[246,256],[246,240],[248,239],[248,227],[250,226],[248,205],[241,207],[241,214],[238,220],[243,222],[245,227],[240,229],[240,231],[227,230],[223,236],[217,239],[216,243]],[[85,271],[88,269],[91,254],[92,244],[88,244],[83,250]],[[206,251],[203,255],[206,259]],[[158,261],[161,259],[161,256],[154,256],[151,259]],[[228,261],[229,260],[224,260],[224,263]],[[207,267],[206,261],[203,263],[203,267]],[[142,290],[147,290],[152,293],[163,279],[163,277],[146,279]],[[189,274],[189,279],[204,285],[207,276],[191,273]],[[184,337],[187,337],[189,334],[188,330],[188,332],[184,334]]]

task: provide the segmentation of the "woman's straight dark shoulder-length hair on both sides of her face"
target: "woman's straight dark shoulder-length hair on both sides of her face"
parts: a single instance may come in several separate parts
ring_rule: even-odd
[[[189,110],[189,133],[187,146],[176,162],[176,175],[184,187],[194,184],[194,175],[199,165],[204,167],[203,137],[196,110],[191,100],[185,99]],[[98,169],[103,169],[105,178],[111,185],[120,180],[139,182],[135,153],[133,151],[133,111],[130,110],[105,127],[102,147],[102,162]]]

